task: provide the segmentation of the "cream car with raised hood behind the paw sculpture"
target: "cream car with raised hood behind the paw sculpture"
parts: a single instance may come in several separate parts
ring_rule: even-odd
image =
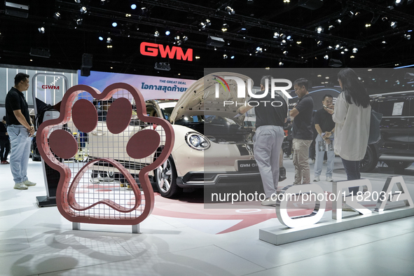
[[[260,174],[253,156],[251,138],[254,129],[244,126],[244,116],[237,115],[237,108],[245,101],[237,98],[237,84],[228,80],[227,85],[219,85],[219,98],[216,98],[217,76],[237,76],[245,83],[244,95],[247,95],[247,76],[234,73],[216,73],[201,78],[177,99],[152,99],[146,101],[147,116],[158,116],[172,123],[174,129],[174,147],[168,160],[153,172],[153,180],[158,191],[166,198],[177,195],[182,188],[202,188],[207,185],[237,186],[240,184],[261,184]],[[253,82],[250,80],[252,86]],[[250,87],[251,88],[251,87]],[[224,101],[239,103],[227,104]],[[133,104],[133,103],[132,103]],[[99,111],[98,111],[99,113]],[[132,116],[134,117],[134,116]],[[103,117],[102,117],[103,118]],[[155,126],[146,126],[132,118],[130,126],[124,134],[115,135],[106,131],[104,120],[98,122],[97,128],[89,137],[89,156],[96,159],[102,156],[107,145],[121,144],[120,151],[125,149],[126,140],[134,132],[144,128],[155,128],[162,136],[162,130]],[[96,147],[102,133],[107,133],[106,146]],[[123,141],[123,142],[122,142]],[[162,149],[163,145],[160,144]],[[125,153],[104,155],[114,158],[136,175],[139,167],[151,163],[159,151],[146,160],[134,160]],[[109,156],[108,156],[109,153]],[[108,172],[108,168],[97,163],[95,177],[99,173]],[[113,177],[116,172],[105,174]]]

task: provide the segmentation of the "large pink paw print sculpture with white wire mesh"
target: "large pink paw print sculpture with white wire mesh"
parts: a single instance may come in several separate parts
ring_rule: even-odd
[[[112,100],[104,122],[98,122],[97,106],[88,99],[77,99],[85,92],[100,101]],[[113,95],[127,97],[113,100]],[[135,113],[138,126],[131,122]],[[74,160],[82,150],[76,137],[62,127],[68,122],[94,138],[97,148],[86,164],[63,162]],[[60,173],[56,202],[62,216],[79,223],[135,225],[151,214],[154,194],[149,173],[170,156],[174,131],[167,120],[146,115],[144,97],[132,85],[114,83],[102,93],[87,85],[75,85],[64,94],[60,117],[39,126],[36,142],[45,163]],[[120,176],[122,183],[92,181],[89,176],[102,173],[102,168]]]

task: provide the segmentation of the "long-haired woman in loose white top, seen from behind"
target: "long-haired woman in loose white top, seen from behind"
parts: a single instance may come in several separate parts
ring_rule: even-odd
[[[338,82],[342,92],[336,100],[332,115],[332,120],[336,123],[333,148],[342,159],[347,180],[361,179],[359,161],[364,159],[368,146],[370,99],[354,70],[340,70]],[[357,192],[358,187],[350,188],[350,193],[356,195]]]

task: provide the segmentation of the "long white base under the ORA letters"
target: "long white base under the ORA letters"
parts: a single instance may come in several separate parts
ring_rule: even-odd
[[[385,210],[381,213],[373,212],[372,214],[351,216],[340,221],[332,219],[330,221],[316,223],[305,228],[264,228],[259,229],[258,238],[271,244],[280,245],[289,242],[296,242],[298,240],[306,240],[311,237],[319,237],[362,226],[368,226],[384,221],[402,219],[406,216],[414,216],[414,208]]]

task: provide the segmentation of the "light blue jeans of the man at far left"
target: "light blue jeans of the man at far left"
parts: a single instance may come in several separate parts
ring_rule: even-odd
[[[11,140],[10,169],[15,184],[27,180],[27,164],[29,163],[29,132],[22,125],[8,125],[8,137]]]

